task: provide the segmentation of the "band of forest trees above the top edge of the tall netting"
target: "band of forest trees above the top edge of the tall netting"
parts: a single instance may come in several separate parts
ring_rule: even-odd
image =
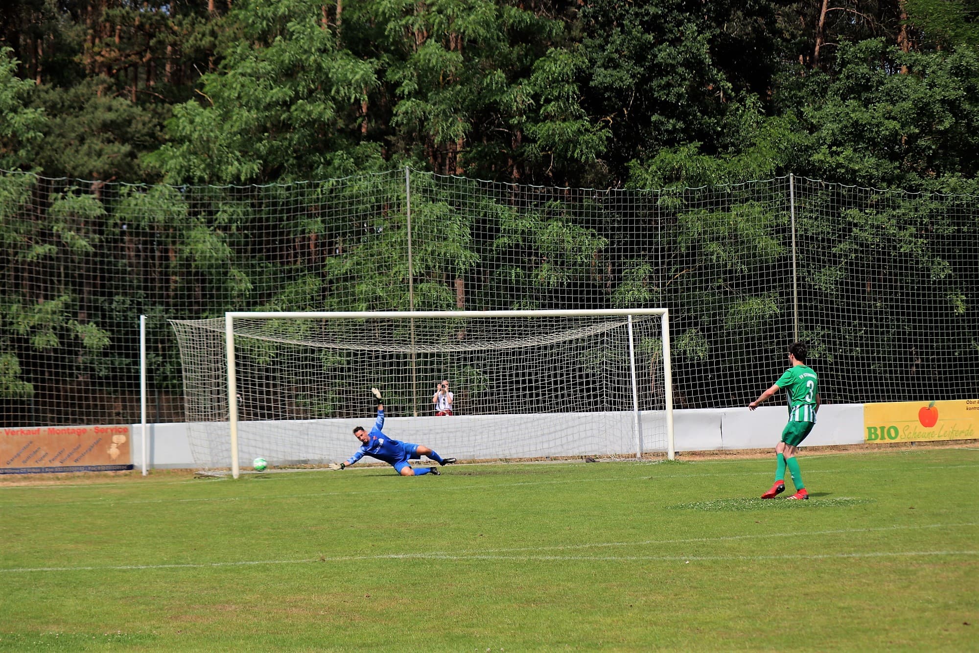
[[[975,175],[979,41],[961,0],[824,14],[765,0],[10,4],[0,166],[53,176],[267,183],[408,161],[568,186],[791,171],[965,190]]]

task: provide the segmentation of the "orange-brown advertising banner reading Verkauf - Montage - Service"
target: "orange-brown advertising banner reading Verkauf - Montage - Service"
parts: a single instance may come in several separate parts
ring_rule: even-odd
[[[0,474],[132,469],[129,426],[0,429]]]

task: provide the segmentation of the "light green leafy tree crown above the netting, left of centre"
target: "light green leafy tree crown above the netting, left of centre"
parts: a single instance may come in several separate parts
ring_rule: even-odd
[[[378,62],[354,57],[321,21],[321,3],[236,4],[203,100],[175,107],[172,140],[148,161],[175,181],[254,182],[340,176],[379,151],[351,140],[356,107],[378,85]]]

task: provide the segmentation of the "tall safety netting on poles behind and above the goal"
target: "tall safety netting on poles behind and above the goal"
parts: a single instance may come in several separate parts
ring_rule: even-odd
[[[0,425],[184,421],[168,319],[664,306],[677,408],[808,342],[834,402],[979,393],[979,202],[778,177],[545,188],[392,170],[269,186],[0,173]],[[949,381],[949,380],[952,381]]]

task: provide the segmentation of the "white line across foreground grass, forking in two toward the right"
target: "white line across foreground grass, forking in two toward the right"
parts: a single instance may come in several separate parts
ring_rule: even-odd
[[[241,560],[236,562],[205,562],[205,563],[182,563],[182,564],[163,564],[163,565],[106,565],[99,567],[21,567],[14,569],[0,569],[2,573],[25,573],[25,572],[85,572],[85,571],[131,571],[147,569],[205,569],[215,567],[243,567],[249,565],[290,565],[290,564],[309,564],[317,562],[355,562],[362,560],[511,560],[511,561],[595,561],[595,562],[615,562],[615,561],[721,561],[721,560],[821,560],[830,558],[873,558],[890,556],[948,556],[948,555],[977,555],[979,551],[964,550],[940,550],[940,551],[877,551],[877,552],[857,552],[857,553],[799,553],[782,555],[545,555],[543,553],[519,555],[521,551],[559,551],[569,549],[597,548],[605,546],[649,546],[657,544],[675,543],[705,543],[723,542],[735,539],[760,539],[770,537],[799,537],[799,536],[836,536],[841,534],[874,533],[886,531],[909,531],[917,529],[956,529],[979,526],[979,522],[968,522],[964,524],[926,524],[921,526],[887,526],[869,529],[834,529],[828,531],[810,532],[791,532],[758,534],[750,536],[718,536],[718,537],[689,537],[683,539],[646,539],[632,542],[592,542],[587,544],[569,544],[555,546],[534,546],[534,547],[514,547],[497,548],[483,550],[462,550],[456,553],[443,551],[432,551],[428,553],[387,553],[378,555],[342,555],[342,556],[319,556],[316,558],[300,558],[296,560]]]

